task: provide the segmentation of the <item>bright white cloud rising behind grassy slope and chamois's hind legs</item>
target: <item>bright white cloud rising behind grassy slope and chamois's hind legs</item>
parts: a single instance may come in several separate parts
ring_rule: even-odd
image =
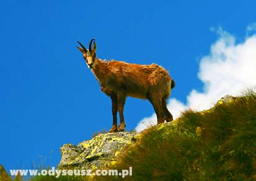
[[[236,44],[235,37],[219,29],[213,29],[220,37],[211,45],[209,55],[204,56],[199,64],[199,79],[204,83],[204,91],[191,90],[186,97],[186,105],[176,99],[168,101],[168,109],[174,118],[181,111],[190,107],[193,110],[204,110],[213,106],[214,102],[226,94],[238,95],[246,88],[256,87],[256,23],[246,29],[244,42]],[[144,118],[135,128],[142,131],[157,123],[155,113]]]

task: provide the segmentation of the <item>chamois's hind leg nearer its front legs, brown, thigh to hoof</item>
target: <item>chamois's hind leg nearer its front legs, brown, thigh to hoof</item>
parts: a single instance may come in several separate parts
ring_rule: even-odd
[[[155,113],[157,114],[157,124],[165,122],[165,113],[163,112],[162,99],[159,97],[150,98],[149,101],[153,105]]]

